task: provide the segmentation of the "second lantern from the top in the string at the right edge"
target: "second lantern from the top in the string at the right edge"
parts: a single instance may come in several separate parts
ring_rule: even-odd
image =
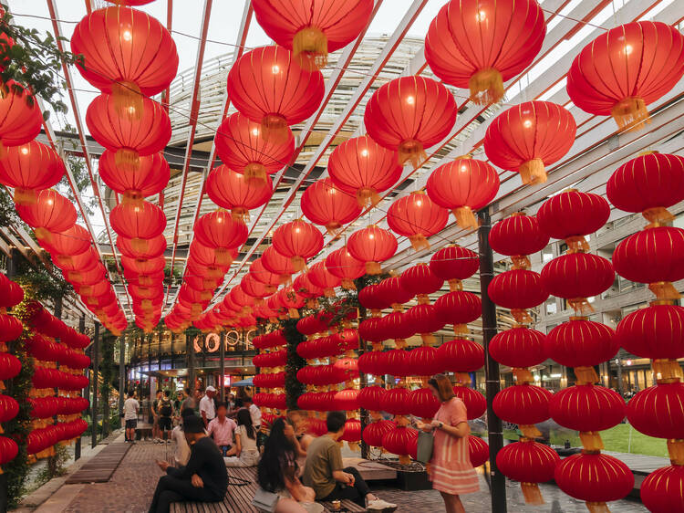
[[[648,283],[658,300],[679,299],[672,282],[684,278],[684,230],[656,226],[628,236],[615,248],[613,266],[621,277]]]

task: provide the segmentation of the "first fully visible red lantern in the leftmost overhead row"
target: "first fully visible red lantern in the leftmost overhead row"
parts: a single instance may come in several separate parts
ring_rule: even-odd
[[[69,229],[78,217],[74,204],[52,189],[40,191],[35,204],[17,204],[16,213],[43,238]]]

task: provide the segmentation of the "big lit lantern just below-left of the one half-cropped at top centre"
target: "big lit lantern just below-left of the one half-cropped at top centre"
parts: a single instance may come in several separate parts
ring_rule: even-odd
[[[309,118],[323,100],[320,71],[293,66],[283,47],[258,47],[237,59],[228,73],[228,96],[235,109],[261,123],[264,139],[285,141],[288,126]]]

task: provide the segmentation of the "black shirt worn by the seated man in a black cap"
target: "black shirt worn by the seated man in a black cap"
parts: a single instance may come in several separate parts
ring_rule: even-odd
[[[190,448],[188,465],[166,469],[169,476],[178,477],[190,483],[193,474],[202,477],[204,489],[215,500],[222,500],[228,488],[228,471],[223,454],[209,436],[203,436]]]

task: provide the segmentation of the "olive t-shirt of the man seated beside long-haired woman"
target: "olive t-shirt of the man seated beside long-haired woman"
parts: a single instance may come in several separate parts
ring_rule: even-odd
[[[327,434],[311,442],[306,450],[304,485],[314,488],[316,499],[329,496],[335,489],[333,472],[342,470],[342,452],[339,445]]]

